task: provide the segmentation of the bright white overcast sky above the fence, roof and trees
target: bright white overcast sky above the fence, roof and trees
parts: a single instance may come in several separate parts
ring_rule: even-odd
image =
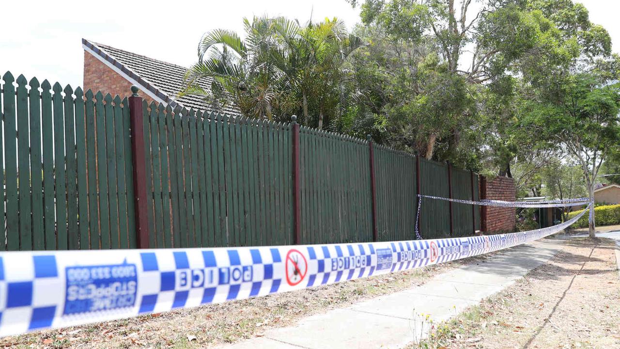
[[[82,85],[82,37],[182,66],[196,60],[198,40],[209,30],[242,32],[242,17],[283,15],[305,22],[339,17],[348,27],[359,9],[345,0],[218,1],[24,1],[0,0],[0,75],[37,76],[71,86]],[[590,19],[611,34],[620,51],[620,2],[580,1]]]

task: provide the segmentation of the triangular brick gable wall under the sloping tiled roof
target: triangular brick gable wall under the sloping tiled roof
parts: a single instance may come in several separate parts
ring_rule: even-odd
[[[116,71],[113,71],[112,68],[91,55],[91,53],[86,52],[86,50],[84,50],[83,88],[85,92],[91,89],[93,94],[97,93],[97,91],[101,91],[104,96],[107,93],[112,94],[112,97],[117,94],[121,98],[131,96],[131,83],[123,78],[123,76],[120,76]],[[149,102],[149,104],[153,101],[153,99],[143,91],[139,91],[138,93],[143,99]]]

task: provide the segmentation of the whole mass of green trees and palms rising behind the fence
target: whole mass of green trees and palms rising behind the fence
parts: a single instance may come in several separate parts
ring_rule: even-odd
[[[601,166],[614,168],[620,59],[582,4],[348,1],[361,7],[352,32],[337,18],[267,16],[244,19],[243,37],[209,32],[182,93],[515,176],[523,193],[557,187],[549,169],[569,165],[591,193]]]

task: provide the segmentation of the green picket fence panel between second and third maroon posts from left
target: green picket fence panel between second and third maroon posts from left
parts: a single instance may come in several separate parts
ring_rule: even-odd
[[[301,243],[371,241],[368,143],[301,127]]]

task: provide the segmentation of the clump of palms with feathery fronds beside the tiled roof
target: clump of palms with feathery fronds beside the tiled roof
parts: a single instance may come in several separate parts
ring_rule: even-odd
[[[347,57],[362,45],[338,19],[304,26],[285,17],[244,18],[246,39],[229,30],[213,30],[198,45],[198,62],[185,75],[180,95],[197,94],[211,102],[234,102],[246,116],[273,118],[281,96],[301,96],[308,125],[308,99],[325,110],[340,95]],[[202,88],[212,78],[210,91]]]

